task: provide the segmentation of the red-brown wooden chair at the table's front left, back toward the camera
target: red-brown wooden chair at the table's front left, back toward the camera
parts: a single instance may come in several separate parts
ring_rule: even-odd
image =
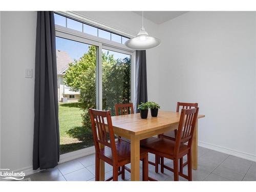
[[[89,109],[92,123],[92,132],[95,146],[95,181],[99,181],[100,160],[113,166],[113,176],[106,181],[118,180],[118,175],[124,179],[124,165],[131,163],[130,143],[122,140],[115,142],[115,135],[111,120],[110,111],[99,111]],[[108,126],[105,126],[108,124]],[[148,181],[148,153],[143,148],[140,149],[140,160],[142,160],[142,178]],[[119,172],[118,167],[122,167]]]

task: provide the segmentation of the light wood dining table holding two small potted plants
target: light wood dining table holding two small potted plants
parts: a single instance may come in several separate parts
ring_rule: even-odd
[[[205,117],[198,115],[198,119]],[[115,135],[131,140],[131,181],[140,179],[140,140],[176,130],[179,125],[180,113],[159,110],[157,117],[141,119],[140,114],[113,116],[112,124]],[[106,124],[107,125],[107,124]],[[104,147],[104,146],[101,146]],[[192,168],[197,169],[198,157],[198,121],[192,143]],[[104,181],[104,162],[100,161],[100,180]]]

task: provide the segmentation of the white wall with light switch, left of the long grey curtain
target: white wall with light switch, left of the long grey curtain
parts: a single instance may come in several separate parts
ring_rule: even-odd
[[[1,13],[1,168],[32,166],[36,12]]]

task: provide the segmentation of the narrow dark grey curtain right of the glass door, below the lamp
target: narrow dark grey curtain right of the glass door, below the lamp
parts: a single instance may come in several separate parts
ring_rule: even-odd
[[[138,104],[140,104],[141,102],[147,102],[146,50],[136,51],[135,92],[135,108],[138,113]]]

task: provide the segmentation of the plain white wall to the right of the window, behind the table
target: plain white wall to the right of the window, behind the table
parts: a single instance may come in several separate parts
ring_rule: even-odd
[[[255,13],[188,12],[159,36],[162,109],[198,102],[200,144],[256,161]]]

